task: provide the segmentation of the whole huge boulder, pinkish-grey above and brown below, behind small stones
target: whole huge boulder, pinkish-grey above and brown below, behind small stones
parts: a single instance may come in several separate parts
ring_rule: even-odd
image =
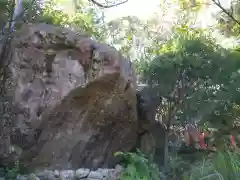
[[[27,168],[113,167],[113,153],[132,150],[139,138],[152,151],[153,143],[142,144],[152,122],[138,113],[135,73],[115,48],[28,24],[14,35],[10,57],[8,144]]]

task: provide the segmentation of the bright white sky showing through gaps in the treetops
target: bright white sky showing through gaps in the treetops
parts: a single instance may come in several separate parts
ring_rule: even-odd
[[[70,8],[73,0],[59,0],[64,2],[65,9]],[[85,0],[88,1],[88,0]],[[98,2],[104,2],[105,0],[97,0]],[[114,0],[109,0],[114,1]],[[115,0],[119,1],[119,0]],[[123,16],[137,16],[142,20],[150,19],[154,13],[159,13],[160,8],[160,2],[166,1],[170,2],[171,0],[128,0],[128,2],[121,4],[116,7],[104,9],[104,15],[105,20],[110,21],[115,18],[123,17]],[[211,1],[211,0],[209,0]],[[223,5],[223,7],[228,8],[230,5],[231,0],[219,0],[220,3]],[[68,7],[68,8],[67,8]],[[72,6],[73,7],[73,6]],[[168,9],[169,12],[167,12],[167,23],[169,21],[173,21],[174,19],[171,16],[171,11]],[[211,26],[215,19],[212,17],[212,13],[218,11],[219,8],[215,5],[212,6],[206,6],[201,12],[201,14],[198,16],[198,26],[202,28],[207,28],[208,26]],[[166,27],[167,28],[167,27]],[[213,34],[213,36],[217,37],[218,39],[222,39],[223,37],[220,34]]]

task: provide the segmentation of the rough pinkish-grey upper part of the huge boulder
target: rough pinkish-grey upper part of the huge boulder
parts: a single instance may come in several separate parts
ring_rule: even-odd
[[[22,133],[70,90],[104,74],[120,72],[136,86],[131,63],[115,48],[68,29],[26,25],[14,36],[12,52],[9,81]]]

